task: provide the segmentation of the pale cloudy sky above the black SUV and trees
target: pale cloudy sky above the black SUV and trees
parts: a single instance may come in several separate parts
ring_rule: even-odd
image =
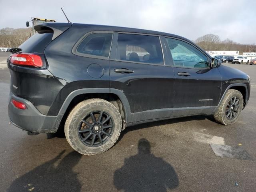
[[[31,17],[143,28],[190,40],[213,33],[256,44],[256,0],[0,0],[0,28],[23,28]]]

